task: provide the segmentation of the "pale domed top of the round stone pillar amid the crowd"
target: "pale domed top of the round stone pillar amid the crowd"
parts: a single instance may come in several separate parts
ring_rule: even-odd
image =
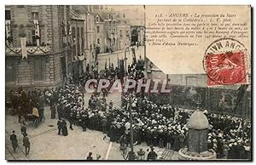
[[[196,110],[189,118],[187,127],[190,129],[207,129],[209,128],[207,117],[202,111]]]

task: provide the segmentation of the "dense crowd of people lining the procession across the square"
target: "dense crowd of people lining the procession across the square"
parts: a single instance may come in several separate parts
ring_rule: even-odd
[[[84,107],[83,86],[87,80],[104,77],[114,81],[121,77],[120,75],[118,68],[99,72],[89,71],[80,77],[79,82],[68,81],[62,88],[36,90],[30,94],[25,94],[22,90],[17,93],[12,92],[12,97],[15,98],[11,98],[11,102],[16,108],[21,106],[22,111],[32,109],[27,108],[28,106],[37,106],[44,111],[44,102],[47,102],[50,105],[51,118],[54,119],[55,114],[58,114],[58,134],[65,136],[68,135],[65,121],[67,120],[71,130],[75,124],[83,131],[87,128],[102,131],[108,135],[110,141],[119,143],[120,147],[131,145],[131,127],[134,134],[133,145],[146,143],[149,146],[166,147],[173,151],[179,151],[185,147],[188,144],[187,122],[193,111],[179,109],[169,104],[156,104],[148,100],[147,96],[137,94],[134,90],[122,94],[121,106],[113,105],[113,101],[107,103],[108,90],[95,91],[88,100],[88,107]],[[142,60],[128,66],[127,77],[135,80],[144,77]],[[209,150],[216,151],[218,158],[251,158],[250,122],[239,117],[218,115],[207,111],[204,113],[211,126],[208,128],[207,137]]]

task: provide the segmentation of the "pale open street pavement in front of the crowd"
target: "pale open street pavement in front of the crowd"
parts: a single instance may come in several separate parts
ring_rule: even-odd
[[[85,106],[88,105],[90,94],[84,94]],[[107,102],[113,100],[114,106],[120,106],[120,94],[109,94]],[[31,151],[25,156],[25,149],[22,145],[22,134],[20,133],[20,123],[17,116],[6,116],[6,159],[8,160],[85,160],[91,151],[92,156],[96,159],[96,155],[101,155],[102,160],[124,160],[119,144],[110,143],[109,138],[103,140],[105,134],[99,131],[87,129],[82,131],[81,127],[73,126],[73,130],[69,129],[67,122],[68,135],[61,136],[57,134],[57,119],[50,119],[49,106],[44,108],[45,122],[41,122],[38,128],[33,128],[32,124],[27,125],[27,134],[31,143]],[[18,149],[13,153],[13,149],[9,140],[9,134],[15,130],[18,139]],[[134,145],[134,151],[143,148],[146,151],[149,146],[146,144]],[[154,147],[158,154],[164,149]],[[68,150],[67,150],[68,149]],[[131,151],[131,148],[128,148]],[[145,156],[145,158],[146,158]],[[177,152],[172,155],[173,160],[177,160]]]

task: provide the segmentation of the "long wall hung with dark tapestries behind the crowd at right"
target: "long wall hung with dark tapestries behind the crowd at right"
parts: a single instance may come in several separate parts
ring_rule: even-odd
[[[148,79],[163,80],[167,78],[166,76],[155,65],[151,71],[148,71]],[[236,108],[240,84],[207,87],[206,74],[168,75],[168,79],[172,90],[171,94],[168,96],[156,94],[150,96],[150,100],[186,109],[196,109],[197,103],[200,102],[200,107],[208,111],[232,114],[238,117],[251,117],[251,86],[247,88],[247,92]],[[251,82],[250,76],[248,76],[248,82]],[[166,97],[168,98],[166,99]]]

